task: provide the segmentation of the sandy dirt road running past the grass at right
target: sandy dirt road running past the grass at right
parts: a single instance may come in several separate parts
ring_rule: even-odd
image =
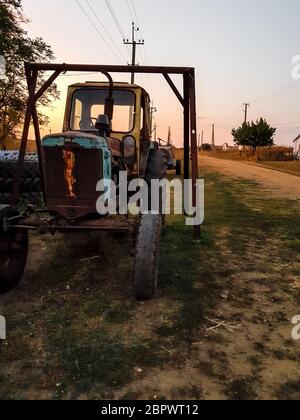
[[[200,165],[212,168],[225,175],[257,181],[268,193],[273,195],[292,200],[300,199],[300,179],[295,175],[273,171],[256,164],[207,156],[200,157]]]

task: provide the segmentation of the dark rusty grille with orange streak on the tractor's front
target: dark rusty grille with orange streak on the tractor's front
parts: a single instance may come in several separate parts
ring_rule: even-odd
[[[102,150],[44,147],[47,205],[67,219],[96,212],[97,182],[103,178]]]

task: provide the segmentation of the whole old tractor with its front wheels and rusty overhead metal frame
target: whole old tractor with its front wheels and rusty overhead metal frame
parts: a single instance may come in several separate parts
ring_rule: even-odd
[[[16,286],[26,265],[28,231],[55,234],[70,231],[128,231],[135,233],[133,286],[137,299],[150,299],[157,288],[162,215],[139,218],[100,216],[96,185],[104,182],[107,200],[111,181],[117,191],[120,173],[128,180],[162,179],[165,154],[150,133],[150,97],[141,87],[114,83],[110,73],[162,74],[184,108],[184,176],[190,178],[192,152],[193,205],[198,177],[195,78],[192,68],[130,67],[67,64],[26,64],[29,98],[10,205],[0,205],[0,292]],[[40,71],[52,76],[36,91]],[[99,72],[107,82],[79,83],[69,87],[63,130],[40,136],[36,103],[61,73]],[[183,96],[170,74],[183,76]],[[19,212],[24,158],[31,121],[34,125],[41,189],[45,208],[32,205]],[[120,213],[120,212],[119,212]],[[195,227],[199,236],[200,227]]]

